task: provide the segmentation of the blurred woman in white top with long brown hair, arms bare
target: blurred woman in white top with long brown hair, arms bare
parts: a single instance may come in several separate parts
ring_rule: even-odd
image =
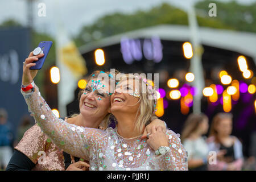
[[[208,162],[208,146],[203,138],[209,128],[205,114],[190,114],[181,132],[181,142],[188,151],[189,170],[205,171]]]

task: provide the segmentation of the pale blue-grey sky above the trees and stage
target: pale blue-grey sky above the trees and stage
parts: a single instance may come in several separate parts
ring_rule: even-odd
[[[36,30],[55,35],[55,19],[59,19],[69,34],[76,35],[80,28],[86,24],[93,23],[102,15],[123,12],[133,13],[139,9],[147,10],[151,7],[167,2],[170,5],[188,9],[193,2],[198,0],[35,0],[33,6],[33,26]],[[221,0],[227,2],[230,0]],[[248,4],[256,0],[237,0],[239,3]],[[38,16],[38,4],[46,5],[46,17]],[[58,3],[59,2],[59,3]],[[18,22],[27,23],[26,0],[1,0],[0,1],[0,23],[8,18],[14,18]]]

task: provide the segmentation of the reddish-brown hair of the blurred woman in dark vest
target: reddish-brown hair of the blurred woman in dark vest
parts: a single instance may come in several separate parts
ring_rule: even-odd
[[[209,137],[214,137],[215,142],[220,143],[220,139],[218,138],[218,131],[216,131],[216,126],[222,121],[223,119],[233,119],[233,114],[231,113],[218,113],[216,114],[210,125],[210,132]]]

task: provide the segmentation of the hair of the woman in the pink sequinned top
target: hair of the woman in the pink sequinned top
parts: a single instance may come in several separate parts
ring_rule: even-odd
[[[100,75],[100,73],[101,73],[102,71],[94,71],[92,74],[90,74],[90,76],[88,76],[88,77],[86,77],[85,78],[85,80],[86,80],[86,82],[88,83],[90,80],[92,80],[92,78],[94,78],[94,77],[97,77],[98,75]],[[104,73],[106,73],[106,74],[110,74],[110,72],[108,71],[108,72],[104,72]],[[119,73],[119,71],[117,71],[116,69],[115,69],[115,75],[117,75]],[[113,76],[114,77],[114,76]],[[112,77],[110,77],[110,79],[109,79],[109,81],[112,79]],[[116,84],[117,82],[115,81],[115,84]],[[84,93],[84,89],[81,89],[80,91],[79,91],[79,94],[78,94],[78,99],[79,99],[79,102],[80,102],[80,98],[81,98],[81,95],[82,95],[82,93]],[[73,117],[76,117],[77,115],[79,115],[79,114],[72,114],[71,115],[71,118],[73,118]],[[114,115],[113,114],[111,114],[111,113],[108,113],[106,116],[105,116],[105,118],[103,119],[103,121],[101,122],[101,124],[100,124],[100,127],[101,127],[101,129],[106,129],[108,126],[109,126],[109,123],[110,123],[110,117],[113,117],[114,118]]]

